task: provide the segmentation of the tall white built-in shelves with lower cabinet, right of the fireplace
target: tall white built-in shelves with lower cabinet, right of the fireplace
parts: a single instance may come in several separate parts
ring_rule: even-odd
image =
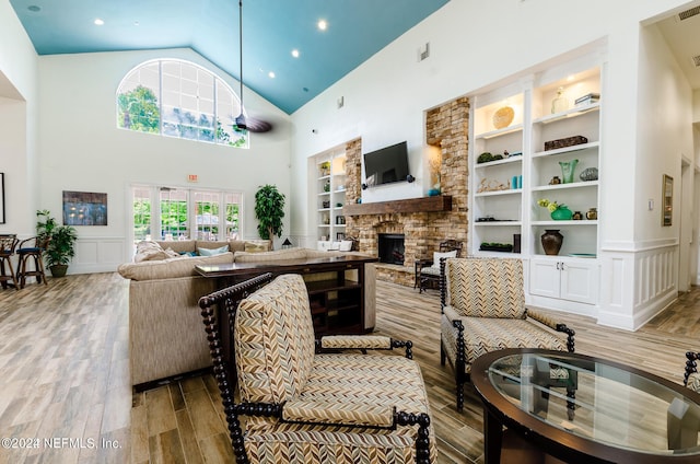
[[[471,98],[469,254],[522,257],[527,298],[546,308],[567,310],[573,302],[574,312],[585,313],[585,305],[598,302],[598,219],[587,217],[593,218],[592,209],[597,217],[605,214],[599,209],[603,69],[563,66],[521,76]],[[575,103],[588,94],[600,100]],[[558,96],[563,103],[555,104]],[[587,141],[546,150],[547,141],[575,136]],[[497,159],[479,162],[483,153]],[[560,162],[572,160],[578,160],[573,182],[562,183]],[[587,169],[598,170],[598,178],[582,179]],[[582,219],[553,220],[539,199],[564,204]],[[564,237],[556,256],[546,255],[541,245],[548,229]],[[508,245],[515,250],[494,251]]]

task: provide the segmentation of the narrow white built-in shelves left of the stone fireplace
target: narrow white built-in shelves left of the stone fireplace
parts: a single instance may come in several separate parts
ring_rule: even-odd
[[[316,240],[322,250],[329,250],[334,243],[346,236],[346,153],[331,151],[319,154],[314,160],[316,175]]]

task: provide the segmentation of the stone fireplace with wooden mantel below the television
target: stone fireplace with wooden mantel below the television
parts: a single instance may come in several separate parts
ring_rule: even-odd
[[[467,153],[469,101],[460,97],[425,113],[425,140],[441,153],[436,197],[381,204],[357,204],[362,189],[362,140],[346,146],[346,234],[359,251],[380,256],[380,235],[402,235],[402,263],[378,263],[377,279],[412,287],[416,259],[432,257],[440,242],[453,239],[467,247]],[[429,175],[429,174],[424,174]],[[397,251],[392,254],[399,255]]]

